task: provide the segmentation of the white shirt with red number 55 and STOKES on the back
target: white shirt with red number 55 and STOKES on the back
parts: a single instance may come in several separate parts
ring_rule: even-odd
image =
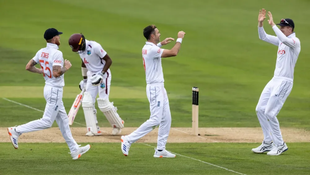
[[[64,66],[64,58],[62,52],[58,50],[59,47],[56,44],[47,43],[45,48],[40,49],[33,57],[33,60],[40,64],[43,70],[43,77],[45,84],[54,87],[64,86],[64,74],[55,78],[53,76],[53,66]]]

